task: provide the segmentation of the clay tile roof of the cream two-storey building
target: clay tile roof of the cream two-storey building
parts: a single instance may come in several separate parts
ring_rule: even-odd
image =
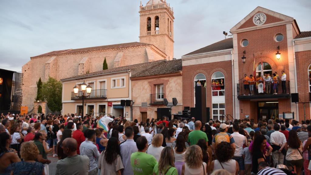
[[[68,79],[85,78],[85,77],[102,75],[102,74],[107,74],[107,73],[126,71],[126,70],[131,70],[131,69],[135,69],[135,68],[142,67],[142,66],[158,64],[158,63],[163,62],[163,61],[164,60],[158,60],[158,61],[152,61],[152,62],[147,62],[147,63],[133,64],[133,65],[129,65],[129,66],[122,66],[122,67],[118,67],[118,68],[106,69],[106,70],[101,70],[101,71],[97,71],[97,72],[86,73],[86,74],[83,74],[83,75],[77,75],[77,76],[73,76],[73,77],[69,77],[69,78],[64,78],[64,79],[61,79],[61,80],[63,81],[63,80],[68,80]]]

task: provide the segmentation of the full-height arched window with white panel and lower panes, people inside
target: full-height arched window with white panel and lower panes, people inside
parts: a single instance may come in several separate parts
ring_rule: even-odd
[[[213,120],[225,121],[225,76],[215,72],[211,78]]]

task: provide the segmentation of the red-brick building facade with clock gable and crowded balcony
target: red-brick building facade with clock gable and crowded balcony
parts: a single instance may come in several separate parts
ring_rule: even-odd
[[[304,120],[303,104],[291,102],[291,98],[292,93],[299,93],[299,102],[310,100],[311,32],[300,32],[294,18],[262,7],[254,9],[230,32],[232,38],[182,57],[183,106],[195,107],[194,86],[199,80],[206,86],[208,116],[214,120],[276,119],[283,112],[294,112],[296,120]],[[280,53],[279,58],[276,53]],[[247,86],[244,90],[244,74],[255,77],[269,73],[273,77],[277,72],[281,79],[281,71],[287,75],[283,82],[286,92],[282,91],[281,81],[277,94],[269,81],[264,93],[258,93],[257,83],[253,94]],[[222,81],[224,86],[219,86],[217,81]],[[310,110],[310,104],[305,104],[306,119],[310,119]]]

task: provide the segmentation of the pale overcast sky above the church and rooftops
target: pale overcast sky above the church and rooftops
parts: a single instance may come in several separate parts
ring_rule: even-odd
[[[148,0],[142,0],[145,6]],[[310,0],[167,0],[174,8],[174,57],[224,39],[257,6],[311,31]],[[0,0],[0,68],[21,72],[31,56],[139,41],[139,0]]]

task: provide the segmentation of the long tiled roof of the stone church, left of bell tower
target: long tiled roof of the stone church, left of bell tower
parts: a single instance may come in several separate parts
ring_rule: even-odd
[[[55,55],[55,54],[68,54],[68,53],[75,53],[75,52],[86,52],[86,51],[93,51],[93,50],[106,50],[106,49],[118,49],[118,48],[124,48],[124,47],[135,47],[135,46],[143,46],[143,45],[150,45],[146,43],[140,43],[140,42],[132,42],[132,43],[123,43],[123,44],[114,44],[114,45],[102,45],[97,47],[87,47],[87,48],[81,48],[81,49],[67,49],[67,50],[58,50],[58,51],[52,51],[45,54],[41,54],[34,57],[39,56],[48,56],[48,55]]]

